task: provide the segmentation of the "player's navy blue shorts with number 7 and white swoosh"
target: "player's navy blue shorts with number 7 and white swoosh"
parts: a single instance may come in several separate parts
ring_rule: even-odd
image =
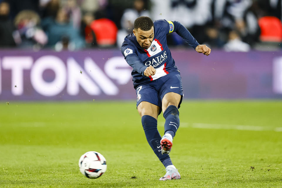
[[[183,98],[183,89],[180,73],[178,71],[170,72],[169,74],[162,76],[161,78],[153,80],[149,83],[139,85],[136,88],[136,107],[142,101],[147,101],[159,106],[161,108],[159,112],[160,114],[162,111],[162,98],[165,94],[170,92],[178,93],[179,95],[181,95],[180,103],[178,105],[178,108],[180,108],[180,104]]]

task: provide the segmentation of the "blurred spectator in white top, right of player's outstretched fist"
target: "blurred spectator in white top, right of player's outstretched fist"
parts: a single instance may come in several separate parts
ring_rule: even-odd
[[[247,43],[241,41],[239,34],[236,31],[229,32],[229,41],[223,46],[225,51],[235,51],[235,52],[248,52],[251,46]]]

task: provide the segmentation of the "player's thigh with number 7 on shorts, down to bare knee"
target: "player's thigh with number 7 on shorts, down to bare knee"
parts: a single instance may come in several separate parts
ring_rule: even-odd
[[[152,85],[141,85],[136,88],[137,95],[137,110],[142,117],[143,115],[150,115],[157,119],[161,112],[161,99],[158,92]]]

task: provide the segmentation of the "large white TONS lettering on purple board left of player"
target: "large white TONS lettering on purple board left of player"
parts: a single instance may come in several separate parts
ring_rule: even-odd
[[[132,70],[122,56],[109,58],[104,65],[105,72],[90,57],[84,59],[82,67],[73,57],[68,58],[65,64],[61,58],[51,55],[41,56],[34,63],[31,56],[4,56],[0,59],[0,94],[4,81],[1,68],[11,70],[12,95],[23,95],[24,70],[28,70],[33,89],[48,97],[58,95],[65,88],[69,95],[78,95],[80,88],[89,95],[100,95],[102,92],[117,95],[119,89],[112,80],[119,85],[126,84],[131,80]],[[44,80],[45,70],[55,73],[52,81]]]

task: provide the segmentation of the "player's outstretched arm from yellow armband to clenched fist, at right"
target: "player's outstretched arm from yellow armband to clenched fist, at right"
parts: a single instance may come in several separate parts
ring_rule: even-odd
[[[181,36],[190,46],[192,46],[197,52],[203,53],[208,56],[211,53],[211,48],[205,44],[199,44],[197,40],[191,35],[191,33],[178,21],[167,21],[169,24],[169,32],[176,32]],[[168,34],[167,33],[167,34]]]

